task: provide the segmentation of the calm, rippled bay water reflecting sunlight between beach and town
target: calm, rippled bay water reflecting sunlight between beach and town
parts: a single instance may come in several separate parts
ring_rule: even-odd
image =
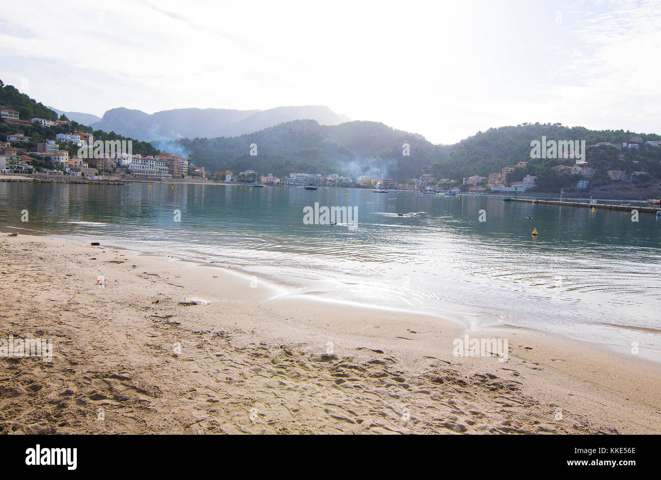
[[[626,212],[490,196],[174,187],[0,182],[0,222],[239,262],[262,280],[290,286],[290,294],[433,312],[469,328],[507,323],[613,346],[638,342],[661,352],[661,220],[651,214],[633,222]],[[356,206],[358,228],[303,224],[303,208],[315,202]]]

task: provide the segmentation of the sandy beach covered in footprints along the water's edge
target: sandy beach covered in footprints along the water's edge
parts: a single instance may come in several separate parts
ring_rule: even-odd
[[[2,338],[53,356],[0,358],[3,434],[661,433],[660,365],[630,352],[10,231]],[[465,335],[507,339],[508,360],[455,356]]]

